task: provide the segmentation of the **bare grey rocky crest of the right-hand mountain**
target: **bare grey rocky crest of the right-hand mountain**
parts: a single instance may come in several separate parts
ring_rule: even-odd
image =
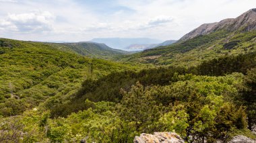
[[[210,34],[218,30],[236,31],[239,29],[243,31],[256,30],[256,9],[251,9],[236,18],[224,19],[215,23],[205,23],[183,36],[180,41],[189,40],[199,35]]]

